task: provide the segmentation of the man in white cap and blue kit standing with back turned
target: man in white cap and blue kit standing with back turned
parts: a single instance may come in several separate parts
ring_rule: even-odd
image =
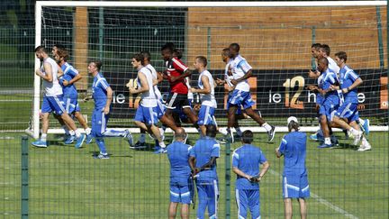
[[[299,132],[298,120],[294,116],[287,119],[287,125],[289,133],[285,134],[276,149],[277,158],[284,156],[282,191],[285,218],[292,218],[292,198],[297,198],[303,219],[307,217],[305,199],[310,196],[308,171],[305,167],[306,134]]]

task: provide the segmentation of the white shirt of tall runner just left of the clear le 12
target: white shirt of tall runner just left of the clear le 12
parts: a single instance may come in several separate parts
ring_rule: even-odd
[[[235,57],[235,59],[231,59],[231,71],[232,71],[232,76],[235,80],[242,78],[249,71],[249,69],[251,69],[251,66],[246,61],[246,59],[244,59],[240,55]],[[240,81],[236,85],[235,89],[249,92],[248,80],[246,79],[246,80]]]

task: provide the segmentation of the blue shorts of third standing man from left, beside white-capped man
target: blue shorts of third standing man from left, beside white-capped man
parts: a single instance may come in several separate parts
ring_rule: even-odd
[[[259,189],[236,189],[235,198],[238,205],[238,218],[247,218],[248,209],[251,218],[259,218]]]

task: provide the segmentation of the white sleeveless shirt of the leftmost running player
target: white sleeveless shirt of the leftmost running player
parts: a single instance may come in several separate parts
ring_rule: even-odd
[[[52,74],[52,82],[49,82],[47,80],[43,80],[43,90],[45,96],[60,96],[62,95],[62,87],[59,85],[58,80],[58,70],[59,66],[57,62],[55,62],[54,59],[51,59],[50,57],[43,60],[43,65],[41,66],[41,72],[46,75],[44,64],[49,63],[51,66],[51,74]]]

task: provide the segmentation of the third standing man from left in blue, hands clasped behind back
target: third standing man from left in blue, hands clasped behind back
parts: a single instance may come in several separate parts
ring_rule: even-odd
[[[235,197],[238,205],[238,218],[260,218],[259,182],[267,173],[269,163],[262,151],[251,144],[253,132],[242,133],[243,145],[232,155],[232,171],[237,175]],[[259,171],[259,166],[262,169]]]

